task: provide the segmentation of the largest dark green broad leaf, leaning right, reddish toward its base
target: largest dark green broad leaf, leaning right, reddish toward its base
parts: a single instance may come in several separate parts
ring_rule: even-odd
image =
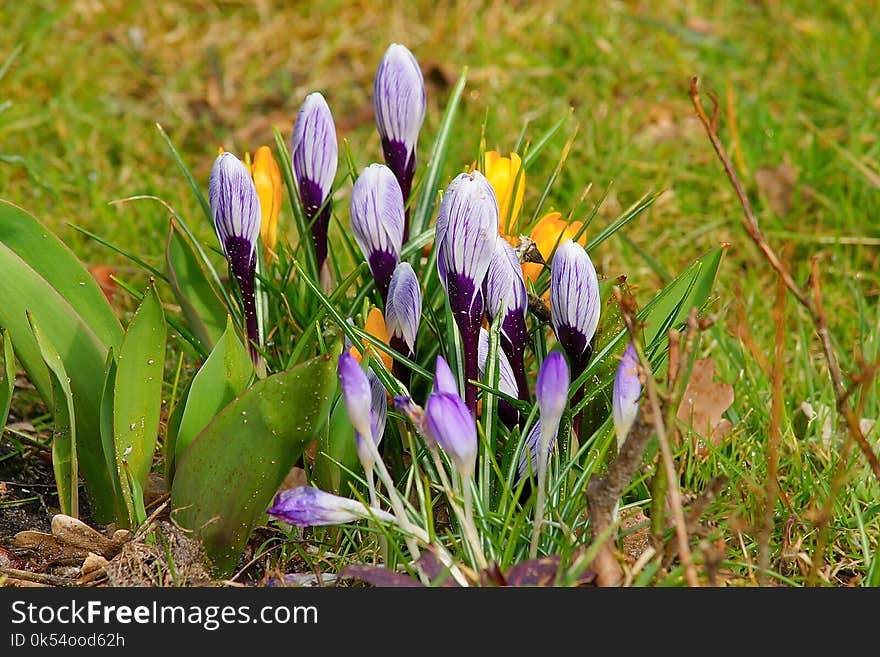
[[[228,404],[177,464],[174,519],[201,538],[229,576],[278,487],[327,421],[336,390],[337,347],[257,381]]]

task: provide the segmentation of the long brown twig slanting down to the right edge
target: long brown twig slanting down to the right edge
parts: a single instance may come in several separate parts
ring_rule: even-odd
[[[846,403],[846,388],[843,385],[843,378],[840,371],[840,365],[837,361],[837,354],[831,343],[831,335],[828,332],[828,325],[825,321],[825,311],[822,307],[821,295],[818,297],[816,296],[819,294],[818,263],[814,258],[813,272],[815,275],[811,277],[813,288],[813,296],[811,297],[807,290],[803,289],[794,281],[788,268],[780,261],[769,242],[767,242],[767,238],[764,237],[764,234],[761,232],[761,229],[758,226],[758,220],[755,217],[755,213],[752,211],[751,204],[749,203],[749,199],[733,169],[733,164],[731,163],[727,152],[724,150],[724,147],[721,145],[721,140],[718,138],[718,134],[715,132],[710,119],[706,116],[706,112],[703,109],[703,103],[700,100],[697,77],[691,78],[690,96],[694,109],[697,112],[697,116],[705,128],[709,141],[712,142],[712,147],[715,149],[715,153],[718,155],[718,159],[724,167],[724,172],[727,174],[727,178],[730,180],[731,185],[733,185],[736,197],[742,206],[742,224],[746,233],[748,233],[749,237],[764,255],[764,258],[770,263],[770,266],[773,267],[782,279],[785,287],[788,288],[792,296],[797,299],[798,303],[806,308],[813,321],[816,333],[822,343],[822,351],[825,355],[825,360],[828,362],[828,372],[834,385],[834,396],[837,400],[838,412],[840,412],[846,420],[848,435],[856,441],[870,464],[871,470],[874,472],[874,477],[880,481],[880,459],[877,458],[871,444],[868,442],[867,438],[865,438],[865,434],[862,433],[855,413]]]

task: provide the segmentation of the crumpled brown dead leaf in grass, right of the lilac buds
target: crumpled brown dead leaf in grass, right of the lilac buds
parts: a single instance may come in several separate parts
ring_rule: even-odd
[[[722,417],[733,403],[733,386],[714,381],[714,376],[715,362],[712,358],[702,358],[694,362],[676,416],[690,427],[695,437],[718,446],[733,428],[730,421]],[[699,441],[697,453],[700,456],[707,455],[706,448],[701,448]]]

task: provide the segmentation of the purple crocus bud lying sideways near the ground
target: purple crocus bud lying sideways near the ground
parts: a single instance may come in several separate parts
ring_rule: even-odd
[[[376,518],[396,522],[393,515],[368,507],[362,502],[340,497],[311,486],[288,488],[275,496],[268,513],[273,518],[298,527],[342,525],[356,520]]]

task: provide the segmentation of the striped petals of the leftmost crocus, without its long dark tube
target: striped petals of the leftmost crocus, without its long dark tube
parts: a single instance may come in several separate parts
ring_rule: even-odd
[[[208,198],[226,257],[249,261],[260,236],[260,199],[247,167],[232,153],[223,152],[214,160]]]

